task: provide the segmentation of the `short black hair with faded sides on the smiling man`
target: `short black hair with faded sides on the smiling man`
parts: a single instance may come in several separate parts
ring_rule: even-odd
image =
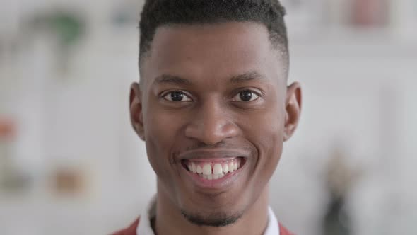
[[[139,63],[151,49],[160,26],[230,21],[262,23],[269,31],[273,45],[288,56],[285,14],[286,10],[278,0],[146,0],[139,23]]]

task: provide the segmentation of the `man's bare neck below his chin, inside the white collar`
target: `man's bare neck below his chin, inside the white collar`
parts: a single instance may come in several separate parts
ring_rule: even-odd
[[[234,224],[226,227],[204,227],[192,224],[185,219],[180,212],[180,208],[177,208],[172,203],[170,198],[163,193],[163,190],[160,190],[158,185],[156,218],[155,224],[153,224],[153,231],[157,235],[262,235],[268,225],[268,194],[268,186],[266,186],[259,195],[259,198],[247,208],[245,214]]]

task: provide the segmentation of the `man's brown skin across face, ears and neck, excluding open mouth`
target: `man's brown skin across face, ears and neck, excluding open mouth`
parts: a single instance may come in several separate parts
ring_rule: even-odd
[[[262,234],[269,180],[283,142],[298,125],[300,84],[287,86],[287,62],[257,23],[158,28],[131,86],[131,122],[158,176],[155,234]],[[182,156],[240,154],[227,187],[201,188]],[[225,227],[197,226],[237,219]]]

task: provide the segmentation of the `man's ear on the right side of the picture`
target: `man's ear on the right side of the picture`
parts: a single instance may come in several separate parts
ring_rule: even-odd
[[[293,83],[287,87],[286,94],[286,122],[284,126],[283,140],[287,141],[293,136],[298,126],[301,114],[301,86]]]

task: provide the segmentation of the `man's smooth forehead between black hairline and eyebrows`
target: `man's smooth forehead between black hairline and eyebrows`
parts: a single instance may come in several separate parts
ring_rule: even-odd
[[[277,55],[258,23],[168,25],[156,31],[141,74],[146,81],[161,74],[213,81],[248,71],[272,77],[283,69]]]

